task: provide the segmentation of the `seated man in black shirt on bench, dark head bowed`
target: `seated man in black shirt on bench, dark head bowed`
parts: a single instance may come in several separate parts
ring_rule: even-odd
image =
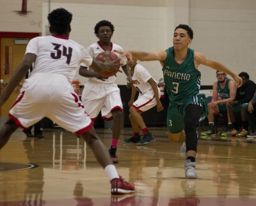
[[[236,90],[236,98],[227,103],[227,113],[230,116],[232,122],[233,130],[226,134],[228,137],[246,137],[249,128],[249,123],[246,118],[246,109],[248,102],[253,98],[253,94],[256,90],[256,84],[249,80],[249,74],[246,72],[241,72],[239,77],[242,78],[243,84],[240,88]],[[241,117],[242,130],[239,133],[239,122],[238,118]]]

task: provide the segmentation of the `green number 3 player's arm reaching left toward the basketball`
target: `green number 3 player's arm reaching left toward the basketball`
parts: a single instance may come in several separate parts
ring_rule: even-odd
[[[157,52],[142,52],[142,51],[116,51],[119,54],[122,54],[123,57],[128,59],[135,58],[139,61],[164,61],[167,57],[166,51],[161,49]]]

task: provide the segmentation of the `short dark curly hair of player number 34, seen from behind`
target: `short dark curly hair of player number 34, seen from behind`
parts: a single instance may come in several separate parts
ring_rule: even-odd
[[[66,32],[69,29],[73,14],[63,8],[54,9],[48,14],[48,21],[52,31],[59,34]]]

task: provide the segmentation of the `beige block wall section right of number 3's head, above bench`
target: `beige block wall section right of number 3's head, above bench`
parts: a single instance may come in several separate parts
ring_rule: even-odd
[[[189,0],[191,48],[256,82],[256,1]],[[202,84],[216,80],[215,71],[200,66]]]

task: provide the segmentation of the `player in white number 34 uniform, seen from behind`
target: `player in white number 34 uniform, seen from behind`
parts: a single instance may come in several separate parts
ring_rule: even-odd
[[[86,141],[110,177],[112,194],[134,192],[134,186],[117,174],[107,149],[93,129],[93,122],[71,86],[76,67],[81,62],[97,72],[114,72],[116,63],[94,61],[83,46],[68,38],[72,14],[66,9],[53,10],[48,20],[52,36],[35,37],[29,41],[23,61],[0,96],[2,106],[34,63],[31,76],[25,80],[9,112],[9,119],[0,128],[0,149],[18,127],[26,129],[43,117],[49,117]]]

